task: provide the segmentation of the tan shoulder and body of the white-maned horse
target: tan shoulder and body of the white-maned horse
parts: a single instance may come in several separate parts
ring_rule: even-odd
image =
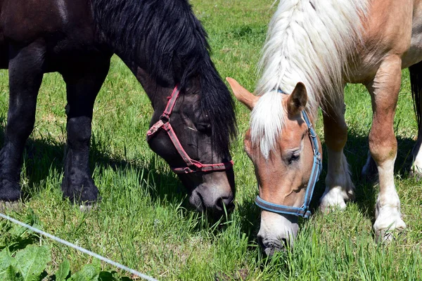
[[[422,60],[422,0],[371,0],[362,20],[362,46],[357,48],[350,82],[371,79],[383,60],[399,56],[402,68]]]

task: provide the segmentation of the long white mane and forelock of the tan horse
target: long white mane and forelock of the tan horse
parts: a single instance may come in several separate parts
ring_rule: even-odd
[[[307,112],[343,91],[347,60],[362,39],[361,20],[369,0],[281,0],[269,22],[255,93],[260,102],[251,115],[252,143],[269,155],[284,126],[281,89],[307,88]]]

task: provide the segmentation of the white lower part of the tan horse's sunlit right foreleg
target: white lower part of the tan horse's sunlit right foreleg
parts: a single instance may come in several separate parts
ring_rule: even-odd
[[[378,240],[391,240],[392,230],[406,228],[400,214],[399,195],[395,189],[394,162],[395,159],[391,159],[378,166],[380,193],[376,200],[376,221],[373,224]]]

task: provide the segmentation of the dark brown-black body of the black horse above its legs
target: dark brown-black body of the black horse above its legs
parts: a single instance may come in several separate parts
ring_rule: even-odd
[[[39,41],[46,55],[87,50],[94,41],[94,20],[87,0],[0,0],[0,66],[10,47]]]

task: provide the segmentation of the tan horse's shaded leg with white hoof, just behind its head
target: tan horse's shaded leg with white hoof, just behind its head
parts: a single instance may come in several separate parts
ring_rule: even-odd
[[[343,95],[342,95],[343,96]],[[349,165],[343,153],[347,141],[347,125],[344,117],[343,98],[328,103],[324,108],[324,136],[328,151],[326,190],[320,200],[322,211],[330,207],[346,207],[345,200],[354,196]]]

